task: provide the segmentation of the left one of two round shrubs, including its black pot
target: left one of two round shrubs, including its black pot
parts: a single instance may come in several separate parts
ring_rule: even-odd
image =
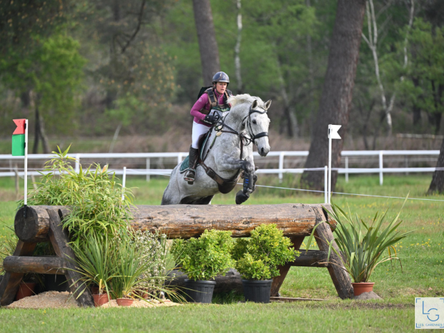
[[[230,255],[232,239],[230,231],[205,230],[198,238],[176,239],[171,253],[181,271],[188,275],[185,280],[187,300],[211,303],[216,275],[225,275],[234,262]]]

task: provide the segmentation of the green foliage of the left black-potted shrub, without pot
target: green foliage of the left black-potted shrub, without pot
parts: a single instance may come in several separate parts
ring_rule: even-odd
[[[211,280],[234,266],[230,231],[205,230],[199,238],[176,239],[171,253],[191,280]]]

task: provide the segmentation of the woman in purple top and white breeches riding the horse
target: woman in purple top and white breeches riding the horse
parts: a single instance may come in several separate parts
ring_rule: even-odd
[[[189,147],[189,169],[184,177],[189,185],[193,185],[196,178],[196,163],[198,160],[199,150],[198,141],[201,135],[210,130],[216,121],[214,112],[230,111],[230,104],[227,100],[232,96],[230,90],[227,89],[230,78],[223,71],[219,71],[213,76],[213,86],[205,90],[191,108],[191,116],[194,117],[193,133],[191,135],[191,146]]]

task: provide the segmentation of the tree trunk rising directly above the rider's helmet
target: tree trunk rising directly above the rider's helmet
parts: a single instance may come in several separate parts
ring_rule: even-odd
[[[211,85],[214,74],[221,70],[219,49],[214,33],[210,0],[193,0],[194,22],[202,62],[203,84]]]

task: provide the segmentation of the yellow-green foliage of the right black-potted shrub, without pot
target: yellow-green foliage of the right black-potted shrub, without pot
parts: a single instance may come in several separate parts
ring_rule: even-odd
[[[269,280],[280,275],[278,266],[294,260],[300,253],[275,224],[262,224],[250,239],[237,239],[232,249],[236,269],[246,280]]]

